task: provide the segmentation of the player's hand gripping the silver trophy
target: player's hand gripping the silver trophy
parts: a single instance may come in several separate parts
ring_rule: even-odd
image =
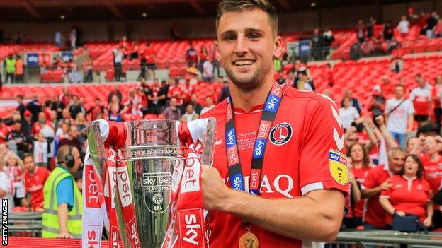
[[[214,167],[201,165],[201,190],[203,191],[203,206],[208,210],[221,210],[229,189],[222,181],[220,172]]]

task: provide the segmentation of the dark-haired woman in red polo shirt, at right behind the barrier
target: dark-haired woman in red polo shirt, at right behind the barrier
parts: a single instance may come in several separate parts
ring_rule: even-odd
[[[391,177],[390,189],[382,191],[379,198],[382,208],[387,211],[386,223],[391,225],[395,214],[404,216],[408,213],[419,216],[426,227],[431,226],[431,188],[429,182],[422,178],[423,170],[419,158],[410,154],[405,158],[404,168],[399,175]]]

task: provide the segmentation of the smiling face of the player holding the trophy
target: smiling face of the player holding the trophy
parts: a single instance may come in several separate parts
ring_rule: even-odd
[[[279,56],[281,47],[264,11],[229,12],[220,18],[217,59],[238,88],[254,89],[273,76],[273,56]]]

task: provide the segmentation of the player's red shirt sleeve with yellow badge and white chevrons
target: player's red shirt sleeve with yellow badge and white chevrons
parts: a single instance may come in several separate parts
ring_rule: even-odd
[[[302,195],[317,189],[339,189],[348,194],[344,130],[336,106],[329,100],[310,100],[305,108],[300,139]]]

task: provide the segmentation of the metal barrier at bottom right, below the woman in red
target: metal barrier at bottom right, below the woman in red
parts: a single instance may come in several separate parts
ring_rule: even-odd
[[[394,248],[435,248],[442,247],[442,233],[424,234],[396,231],[354,231],[339,232],[336,242],[329,247],[394,247]]]

